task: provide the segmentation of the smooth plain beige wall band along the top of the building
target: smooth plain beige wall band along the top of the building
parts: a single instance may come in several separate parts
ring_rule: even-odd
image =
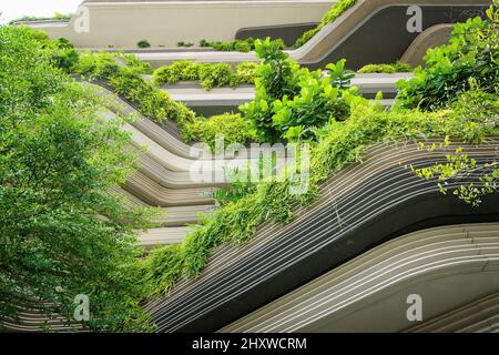
[[[27,22],[51,38],[65,37],[79,48],[175,48],[179,41],[231,41],[247,28],[318,22],[330,0],[83,1],[69,22]],[[298,36],[298,32],[296,32]],[[295,37],[296,37],[295,36]]]

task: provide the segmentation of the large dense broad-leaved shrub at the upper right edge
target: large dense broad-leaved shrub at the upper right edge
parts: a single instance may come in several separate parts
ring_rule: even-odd
[[[397,83],[397,108],[435,110],[472,85],[498,93],[498,4],[495,0],[495,6],[487,11],[488,20],[477,17],[457,23],[449,44],[428,50],[426,68],[416,69],[414,79]]]

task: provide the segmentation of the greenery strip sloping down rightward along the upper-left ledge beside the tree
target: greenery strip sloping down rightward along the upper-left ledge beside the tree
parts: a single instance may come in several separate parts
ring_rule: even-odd
[[[128,65],[120,65],[116,55],[122,54],[82,52],[75,72],[90,80],[108,82],[119,95],[134,103],[142,114],[156,122],[170,119],[182,130],[187,122],[193,121],[194,112],[142,77],[146,67],[130,59]]]

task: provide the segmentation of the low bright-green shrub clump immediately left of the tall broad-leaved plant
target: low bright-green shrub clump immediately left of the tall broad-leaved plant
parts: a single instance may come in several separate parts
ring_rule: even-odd
[[[208,119],[196,118],[189,123],[183,131],[183,139],[186,141],[204,142],[212,151],[215,150],[215,138],[220,135],[224,143],[245,143],[252,139],[247,121],[241,114],[224,113]]]

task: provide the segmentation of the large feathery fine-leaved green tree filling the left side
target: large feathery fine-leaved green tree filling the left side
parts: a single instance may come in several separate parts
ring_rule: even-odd
[[[150,212],[110,193],[133,171],[130,135],[100,122],[100,99],[33,33],[0,28],[0,318],[39,308],[73,323],[84,294],[86,327],[147,331],[135,230]]]

